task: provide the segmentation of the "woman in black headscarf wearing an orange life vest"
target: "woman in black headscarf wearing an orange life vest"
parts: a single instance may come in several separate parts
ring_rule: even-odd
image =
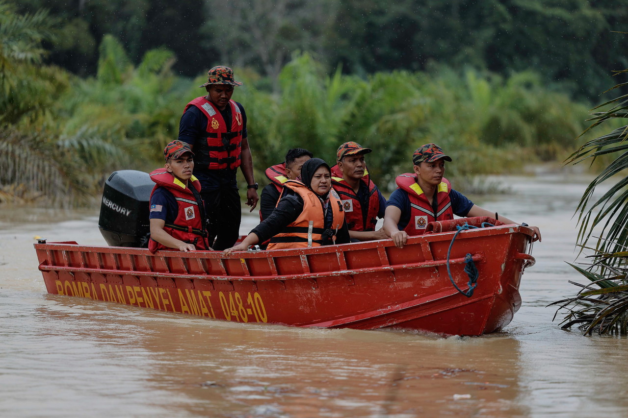
[[[332,173],[325,161],[311,158],[301,175],[284,183],[277,207],[251,230],[242,242],[224,250],[246,251],[249,245],[270,238],[268,250],[346,244],[350,241],[340,196],[332,188]]]

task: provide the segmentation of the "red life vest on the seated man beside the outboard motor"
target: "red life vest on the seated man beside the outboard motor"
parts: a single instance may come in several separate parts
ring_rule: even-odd
[[[173,223],[166,223],[163,230],[168,232],[178,240],[194,244],[198,250],[207,250],[208,246],[205,242],[207,237],[207,231],[203,225],[203,212],[202,208],[199,208],[203,202],[200,200],[200,182],[192,176],[188,181],[188,187],[185,187],[181,181],[175,178],[172,173],[169,173],[164,168],[159,168],[150,174],[151,180],[157,183],[151,191],[151,198],[153,193],[158,187],[166,188],[175,196],[176,204],[178,205],[178,212],[176,214],[175,221]],[[189,187],[193,186],[197,193],[194,193]],[[148,249],[154,254],[157,250],[173,250],[170,247],[156,242],[151,238],[148,242]]]

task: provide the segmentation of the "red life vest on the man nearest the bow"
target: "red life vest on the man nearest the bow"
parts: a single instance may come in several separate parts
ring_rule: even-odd
[[[397,176],[395,181],[399,188],[408,192],[408,197],[410,198],[410,220],[404,228],[408,235],[423,235],[428,223],[436,220],[453,219],[452,201],[449,198],[452,185],[446,178],[443,178],[443,181],[438,185],[435,196],[438,203],[436,213],[434,213],[434,209],[430,201],[425,197],[423,190],[416,183],[416,174],[401,174]]]

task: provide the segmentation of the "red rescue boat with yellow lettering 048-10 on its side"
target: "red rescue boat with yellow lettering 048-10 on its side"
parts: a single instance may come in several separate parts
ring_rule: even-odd
[[[242,323],[482,335],[511,322],[521,274],[534,264],[530,228],[455,228],[484,221],[500,223],[431,223],[403,249],[392,240],[227,256],[43,240],[35,249],[51,294]],[[452,284],[468,288],[468,264],[478,277],[470,297]]]

